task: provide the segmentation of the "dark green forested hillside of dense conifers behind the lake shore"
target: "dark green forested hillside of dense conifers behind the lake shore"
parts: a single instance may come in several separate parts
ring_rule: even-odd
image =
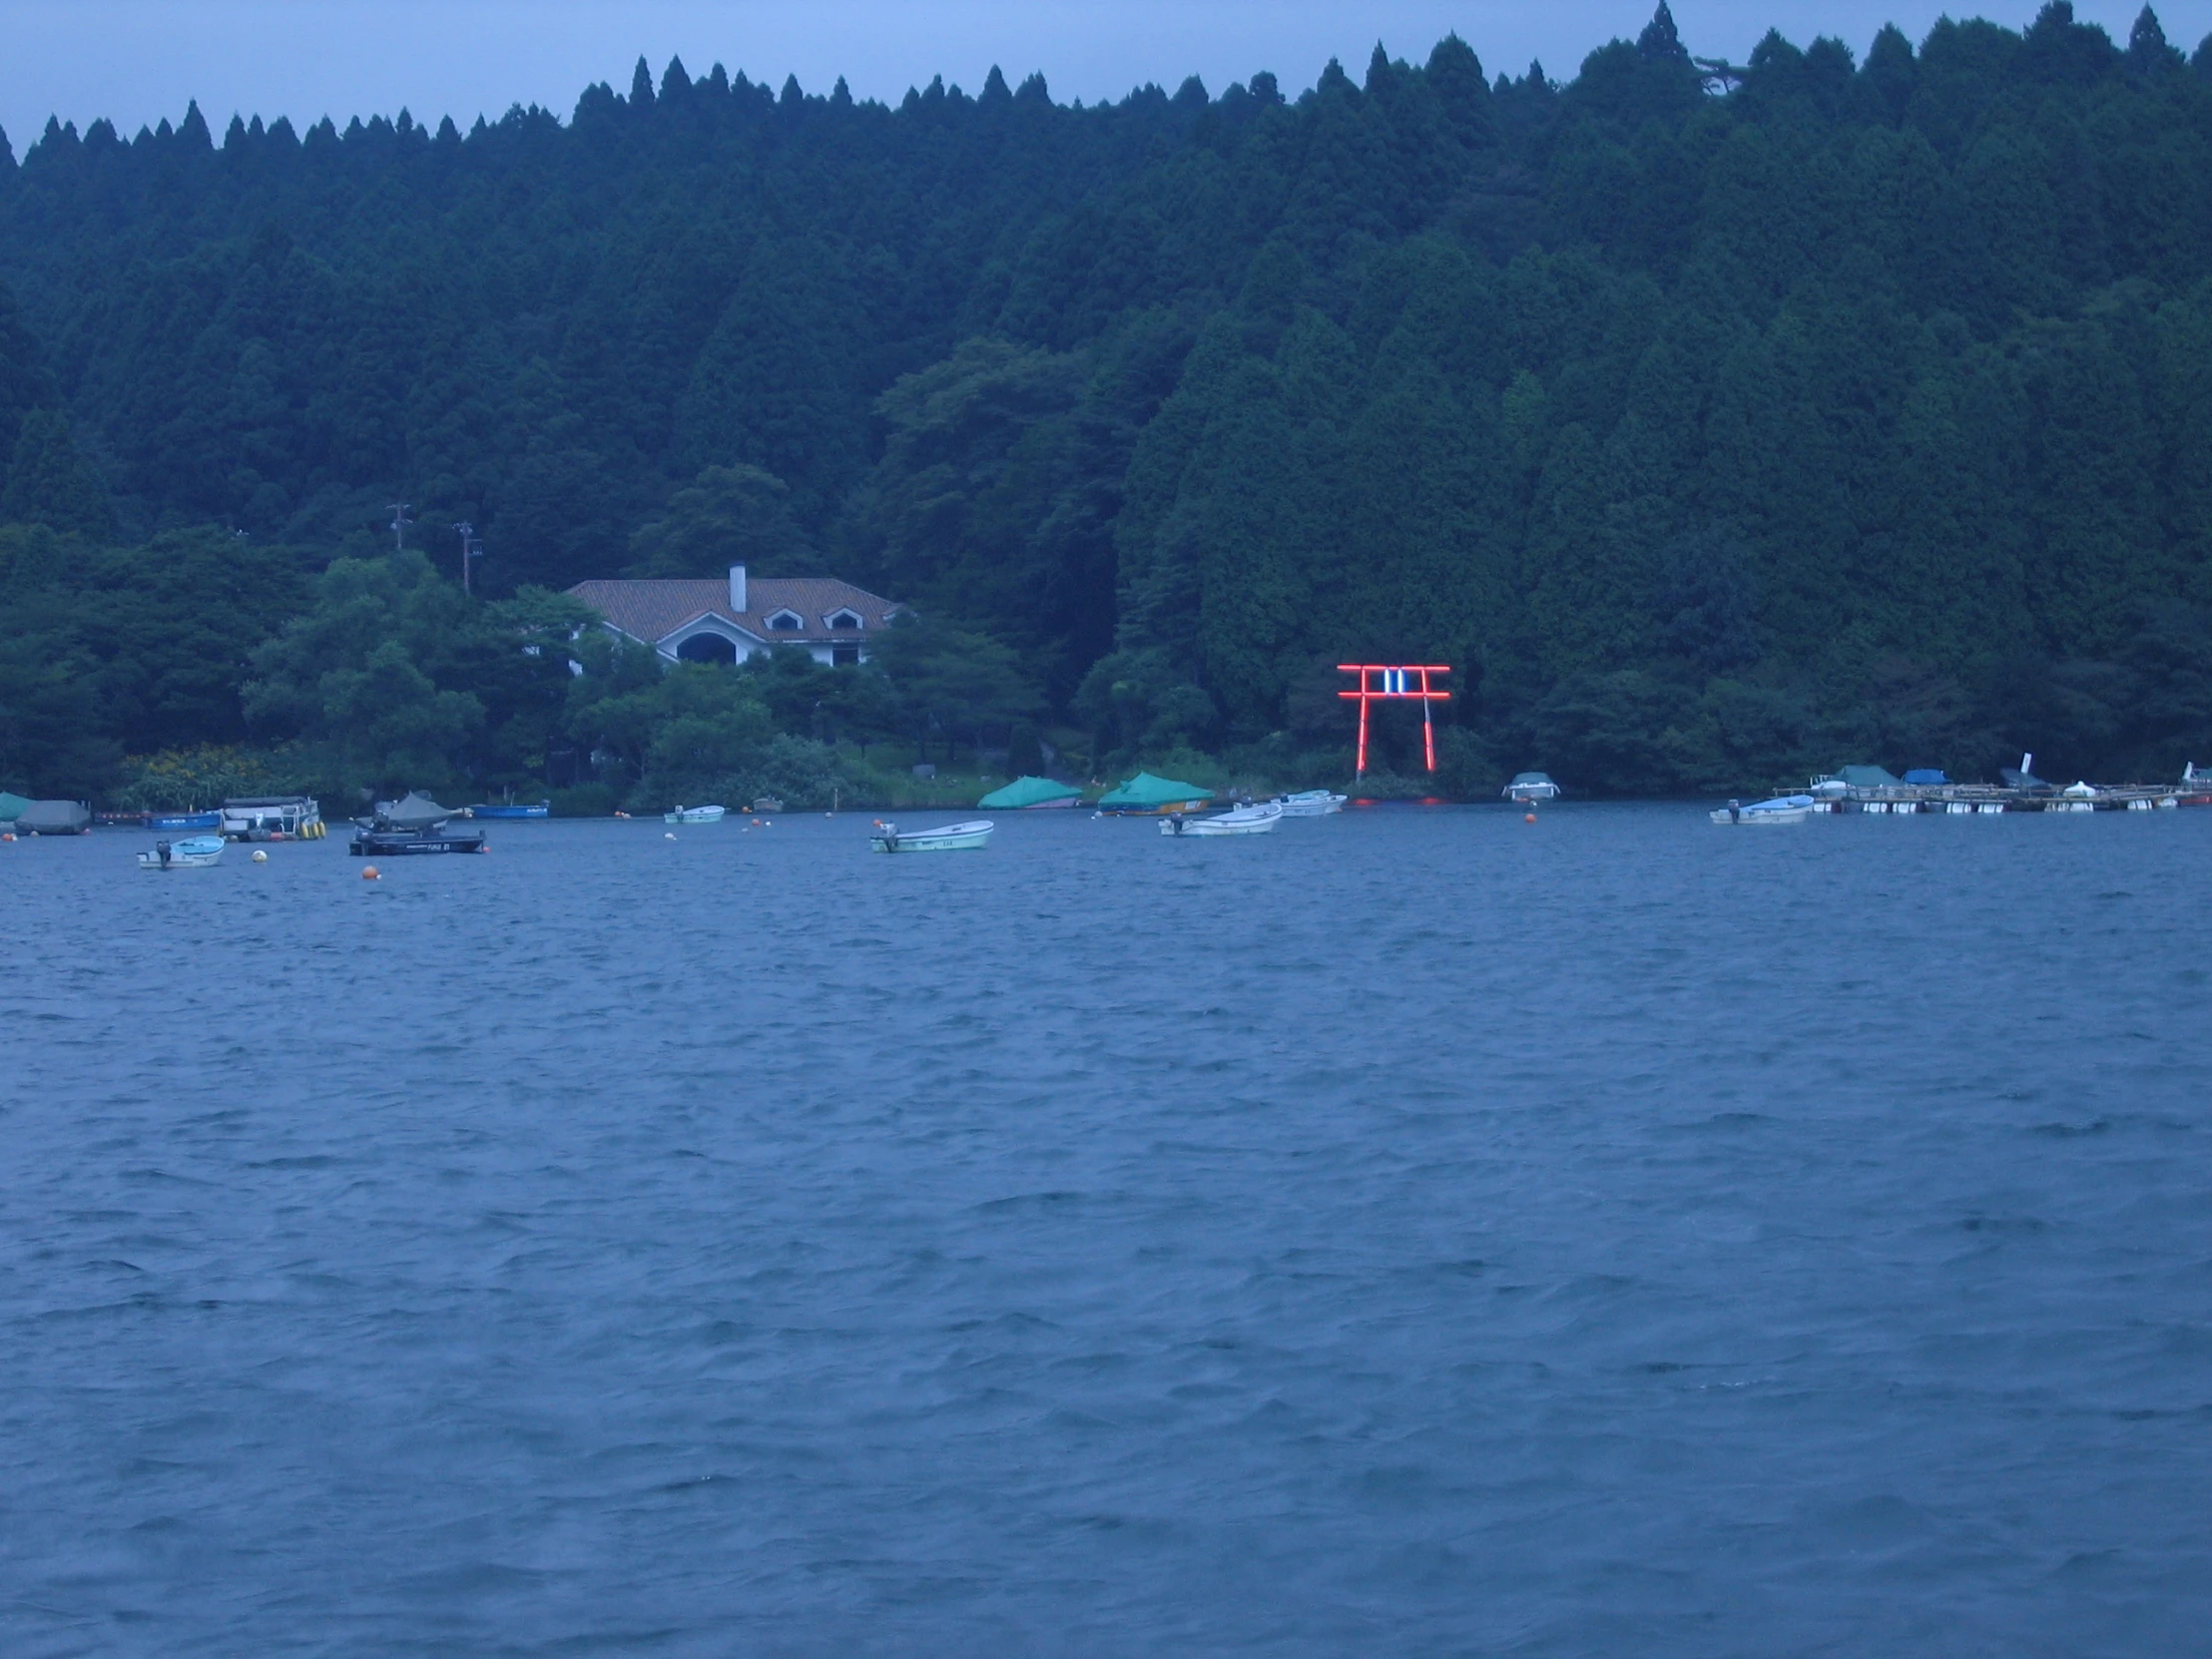
[[[2212,42],[2148,7],[1741,66],[1661,7],[1568,82],[1449,38],[1091,108],[639,64],[566,122],[0,155],[18,787],[372,684],[416,774],[604,763],[560,677],[471,675],[562,624],[531,588],[732,557],[938,628],[836,730],[745,692],[787,750],[1037,721],[1340,776],[1365,657],[1453,666],[1462,790],[2212,761]],[[431,566],[369,562],[394,500]]]

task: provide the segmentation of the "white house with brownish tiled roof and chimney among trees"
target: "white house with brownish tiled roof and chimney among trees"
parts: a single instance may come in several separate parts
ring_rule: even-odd
[[[803,646],[814,661],[867,661],[900,606],[827,575],[730,580],[577,582],[568,593],[615,633],[670,661],[745,661],[774,646]]]

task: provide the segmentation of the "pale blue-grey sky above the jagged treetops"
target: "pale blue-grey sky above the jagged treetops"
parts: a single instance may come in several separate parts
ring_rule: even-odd
[[[2141,0],[2075,0],[2075,13],[2126,40]],[[2026,24],[2039,0],[1995,0],[1982,15]],[[1942,13],[1920,0],[1677,0],[1699,55],[1743,60],[1770,27],[1796,42],[1829,33],[1865,53],[1882,22],[1918,42]],[[1011,80],[1042,69],[1062,102],[1119,97],[1201,75],[1212,91],[1270,69],[1303,88],[1332,58],[1365,62],[1380,38],[1422,58],[1458,31],[1495,73],[1542,58],[1568,77],[1613,35],[1635,35],[1650,0],[0,0],[0,126],[20,155],[49,115],[82,131],[106,115],[124,135],[197,97],[221,128],[232,113],[394,115],[403,106],[462,126],[509,104],[566,115],[595,80],[626,86],[644,53],[672,53],[807,91],[845,75],[858,97],[898,100],[945,75],[969,91],[991,64]],[[2212,0],[2159,7],[2190,51],[2212,31]]]

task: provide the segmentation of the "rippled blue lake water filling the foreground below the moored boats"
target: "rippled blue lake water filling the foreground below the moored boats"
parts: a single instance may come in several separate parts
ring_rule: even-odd
[[[2212,812],[865,832],[0,845],[0,1652],[2203,1652]]]

